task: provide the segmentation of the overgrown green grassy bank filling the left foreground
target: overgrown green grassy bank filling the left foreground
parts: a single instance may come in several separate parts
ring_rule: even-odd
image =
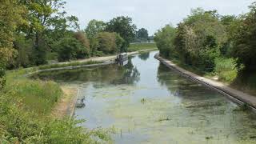
[[[22,76],[37,69],[7,72],[6,86],[0,93],[0,143],[110,142],[106,130],[87,130],[78,126],[81,121],[53,116],[63,91],[55,82]]]

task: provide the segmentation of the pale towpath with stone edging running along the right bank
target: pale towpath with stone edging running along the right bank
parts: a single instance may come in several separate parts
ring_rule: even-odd
[[[168,60],[166,58],[162,58],[159,54],[155,54],[154,58],[158,59],[160,62],[162,62],[164,65],[166,65],[170,69],[178,71],[180,74],[182,74],[182,76],[184,76],[186,78],[190,78],[191,80],[193,80],[195,82],[199,82],[205,86],[208,86],[213,90],[217,90],[219,93],[226,95],[232,101],[237,102],[240,105],[249,106],[252,110],[256,111],[256,97],[255,96],[243,93],[240,90],[234,90],[233,88],[226,86],[222,82],[216,82],[209,78],[204,78],[204,77],[194,74],[190,71],[182,69],[181,67],[177,66],[170,60]]]

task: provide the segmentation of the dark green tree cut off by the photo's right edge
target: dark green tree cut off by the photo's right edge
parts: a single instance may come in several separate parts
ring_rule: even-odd
[[[247,70],[256,70],[256,2],[250,6],[250,12],[242,16],[241,22],[236,24],[232,35],[234,41],[232,53]]]

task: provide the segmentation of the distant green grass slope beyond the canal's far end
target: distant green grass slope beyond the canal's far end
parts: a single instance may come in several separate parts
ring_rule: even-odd
[[[158,50],[155,43],[134,43],[134,44],[130,44],[130,47],[128,48],[128,52],[133,52],[138,50],[149,50],[149,49]]]

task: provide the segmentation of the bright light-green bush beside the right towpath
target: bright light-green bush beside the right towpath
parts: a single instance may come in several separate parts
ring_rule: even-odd
[[[233,82],[238,76],[237,60],[234,58],[216,58],[214,72],[224,82]]]

